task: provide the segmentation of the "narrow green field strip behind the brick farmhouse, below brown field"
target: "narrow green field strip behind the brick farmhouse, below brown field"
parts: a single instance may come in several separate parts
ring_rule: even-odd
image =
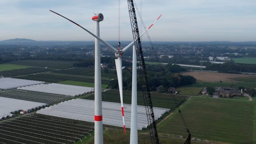
[[[243,87],[256,87],[256,83],[246,83],[246,82],[225,82],[225,83],[219,83],[219,82],[213,82],[213,83],[196,83],[191,84],[186,87],[228,87],[229,84],[234,84],[234,88],[238,88],[239,86]]]

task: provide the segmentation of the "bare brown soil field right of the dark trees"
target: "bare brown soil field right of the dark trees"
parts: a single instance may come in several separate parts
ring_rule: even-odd
[[[227,73],[215,73],[215,72],[203,72],[203,74],[199,74],[198,71],[189,71],[180,73],[184,76],[194,76],[197,80],[205,81],[205,82],[239,82],[229,78],[236,77],[248,77],[246,74],[227,74]],[[250,75],[255,76],[256,75]]]

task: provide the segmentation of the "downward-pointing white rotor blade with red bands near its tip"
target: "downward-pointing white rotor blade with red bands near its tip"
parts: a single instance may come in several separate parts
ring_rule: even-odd
[[[115,59],[115,62],[116,62],[116,73],[117,73],[118,86],[119,86],[119,92],[120,92],[121,110],[122,110],[123,123],[124,123],[122,59],[119,57]],[[124,134],[126,134],[125,124],[124,124]]]

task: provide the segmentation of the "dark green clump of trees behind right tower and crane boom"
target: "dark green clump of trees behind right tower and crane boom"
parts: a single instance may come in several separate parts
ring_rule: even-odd
[[[169,87],[179,87],[196,83],[196,78],[194,78],[193,76],[183,76],[179,73],[176,73],[184,70],[179,65],[164,66],[164,73],[166,74],[169,82],[165,80],[163,73],[158,65],[147,65],[146,68],[151,91],[155,91],[156,87],[159,87],[160,85],[163,85],[164,89],[167,91]],[[112,89],[118,89],[118,80],[111,80],[108,84],[108,87]],[[123,89],[132,90],[132,69],[126,68],[123,70]],[[138,91],[141,91],[141,82],[139,75],[137,76],[137,89]]]

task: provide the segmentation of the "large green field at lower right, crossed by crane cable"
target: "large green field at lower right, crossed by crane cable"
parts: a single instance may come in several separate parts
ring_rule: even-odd
[[[181,108],[192,137],[236,144],[256,143],[256,103],[194,97]],[[158,126],[159,133],[187,136],[176,111]]]

